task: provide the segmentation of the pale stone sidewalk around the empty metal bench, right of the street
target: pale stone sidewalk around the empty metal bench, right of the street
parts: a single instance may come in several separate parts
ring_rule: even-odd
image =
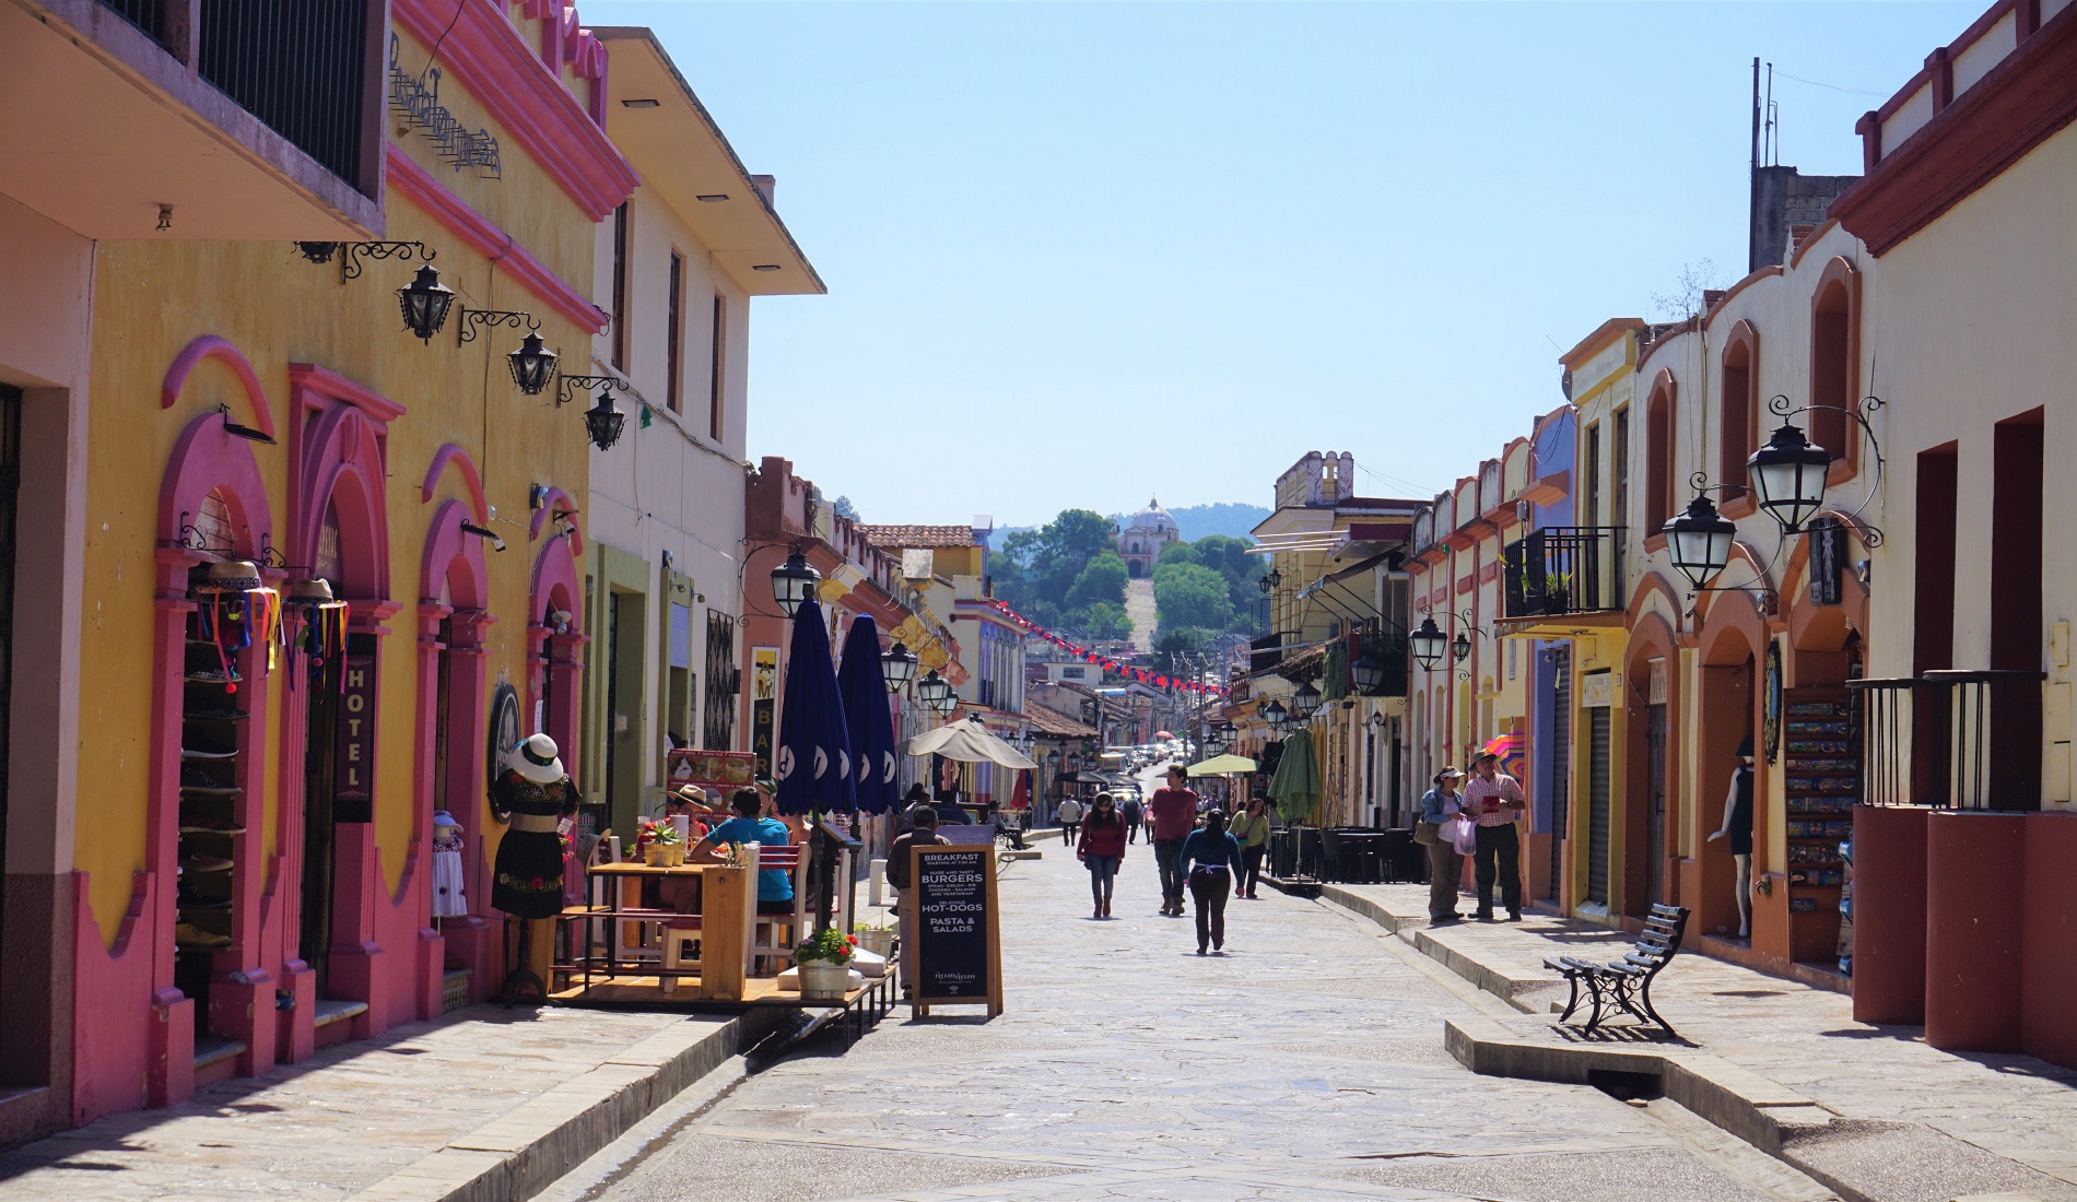
[[[1732,1113],[1705,1117],[1846,1198],[2077,1202],[2077,1073],[2069,1069],[2023,1055],[1942,1053],[1919,1028],[1853,1021],[1844,994],[1703,955],[1680,955],[1651,988],[1680,1040],[1639,1038],[1628,1017],[1603,1026],[1606,1040],[1583,1040],[1579,1017],[1572,1028],[1554,1021],[1566,986],[1543,969],[1543,957],[1612,959],[1635,936],[1545,913],[1431,930],[1425,884],[1329,884],[1321,901],[1377,922],[1525,1013],[1452,1023],[1452,1050],[1479,1071],[1508,1071],[1498,1065],[1512,1061],[1535,1075],[1564,1053],[1599,1055],[1597,1063],[1620,1069],[1622,1059],[1655,1055],[1668,1067],[1687,1065],[1662,1073],[1668,1094],[1674,1075],[1707,1077],[1703,1104],[1716,1098]],[[1487,1063],[1477,1063],[1481,1055]]]

